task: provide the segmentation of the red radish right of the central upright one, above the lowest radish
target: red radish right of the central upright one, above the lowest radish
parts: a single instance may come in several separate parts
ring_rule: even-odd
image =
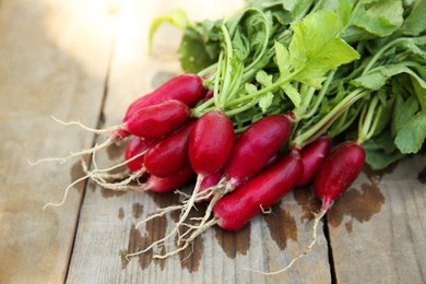
[[[292,122],[286,116],[272,115],[252,123],[235,141],[224,167],[234,188],[257,174],[287,141]]]

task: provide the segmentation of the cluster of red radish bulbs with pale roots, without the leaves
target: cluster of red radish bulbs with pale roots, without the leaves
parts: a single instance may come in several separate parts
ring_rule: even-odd
[[[329,154],[331,139],[327,135],[306,145],[300,140],[289,141],[296,119],[292,113],[264,116],[238,134],[233,120],[220,109],[194,117],[190,107],[213,99],[205,97],[205,93],[209,91],[200,76],[182,74],[138,98],[119,127],[109,129],[113,133],[107,140],[130,139],[125,153],[130,173],[120,175],[121,181],[109,182],[108,174],[85,168],[86,177],[111,190],[163,193],[197,180],[191,197],[181,206],[171,208],[181,210],[175,229],[129,256],[142,253],[176,235],[196,202],[209,202],[205,216],[179,235],[176,250],[155,255],[156,258],[185,249],[214,224],[238,230],[294,187],[312,180],[323,203],[319,215],[322,216],[362,170],[365,153],[358,142],[341,143]]]

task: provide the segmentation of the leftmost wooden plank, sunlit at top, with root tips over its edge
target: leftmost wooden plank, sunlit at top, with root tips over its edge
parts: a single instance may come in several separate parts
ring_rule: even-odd
[[[68,155],[93,134],[55,123],[96,126],[111,51],[113,2],[0,2],[0,283],[63,282],[82,187],[72,163],[31,167],[26,159]],[[108,10],[110,9],[110,10]],[[73,162],[75,163],[75,161]]]

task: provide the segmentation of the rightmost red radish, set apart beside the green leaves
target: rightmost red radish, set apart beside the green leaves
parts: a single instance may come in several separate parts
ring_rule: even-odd
[[[365,151],[353,141],[343,142],[323,161],[313,179],[313,190],[322,201],[322,209],[327,211],[360,174]]]

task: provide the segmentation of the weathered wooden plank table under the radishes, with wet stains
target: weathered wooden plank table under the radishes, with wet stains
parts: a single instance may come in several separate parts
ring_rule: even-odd
[[[313,251],[274,276],[247,269],[281,269],[307,247],[318,210],[309,188],[241,232],[212,228],[192,253],[167,260],[123,256],[173,227],[170,216],[139,230],[134,225],[176,202],[175,194],[115,193],[80,182],[62,206],[42,210],[83,174],[78,159],[35,167],[26,159],[63,156],[105,139],[50,116],[91,127],[117,123],[132,99],[181,72],[180,33],[173,27],[162,26],[147,56],[153,17],[181,7],[190,19],[217,19],[241,4],[0,2],[0,283],[425,283],[425,154],[380,173],[366,169],[321,222]],[[98,164],[120,162],[122,151],[99,153]]]

